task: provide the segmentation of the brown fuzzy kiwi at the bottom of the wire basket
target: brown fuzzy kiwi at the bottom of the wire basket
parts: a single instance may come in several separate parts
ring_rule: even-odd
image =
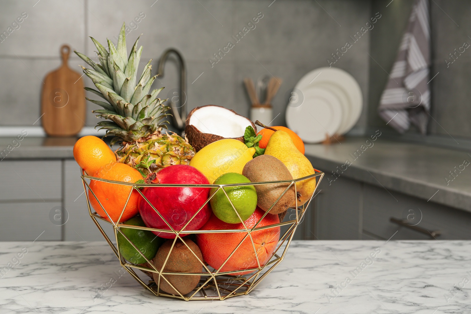
[[[173,243],[172,240],[167,240],[162,244],[162,246],[157,251],[157,255],[154,258],[154,266],[157,270],[161,270],[163,262],[171,249]],[[195,242],[186,239],[188,247],[195,252],[196,256],[203,261],[203,256],[201,255],[201,250],[198,248]],[[164,272],[182,272],[182,273],[201,273],[203,270],[203,265],[195,257],[195,255],[187,248],[185,243],[181,240],[177,240],[173,249],[170,253],[170,256],[165,264],[163,269]],[[155,283],[159,282],[159,274],[153,273]],[[200,282],[200,275],[162,275],[165,277],[171,284],[179,290],[182,295],[190,293]],[[179,295],[169,283],[160,278],[160,289],[174,295]]]

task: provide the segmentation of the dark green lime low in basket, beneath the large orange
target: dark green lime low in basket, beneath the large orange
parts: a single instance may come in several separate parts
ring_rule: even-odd
[[[140,216],[129,219],[124,225],[138,225],[145,227],[144,221]],[[128,239],[141,251],[142,254],[151,260],[157,254],[157,250],[165,239],[159,238],[154,233],[148,230],[139,230],[121,227],[120,230]],[[136,250],[132,244],[118,231],[118,245],[119,251],[123,258],[127,259],[133,264],[144,264],[146,259],[141,253]]]

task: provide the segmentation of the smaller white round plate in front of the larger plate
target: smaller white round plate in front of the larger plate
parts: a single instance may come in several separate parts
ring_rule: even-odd
[[[286,124],[305,143],[319,143],[337,132],[342,121],[342,105],[328,89],[309,86],[302,90],[299,103],[286,108]]]

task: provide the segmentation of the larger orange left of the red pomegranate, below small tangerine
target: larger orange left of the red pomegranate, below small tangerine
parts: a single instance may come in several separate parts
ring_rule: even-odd
[[[92,176],[99,177],[101,179],[131,182],[135,183],[142,179],[141,174],[138,170],[124,164],[124,163],[109,163],[96,171]],[[108,215],[111,217],[113,222],[116,222],[121,215],[124,204],[128,199],[129,193],[131,193],[132,186],[119,185],[114,183],[107,183],[103,181],[91,180],[89,189],[89,200],[90,204],[97,211],[97,214],[101,217],[110,220],[102,209],[100,204],[93,193],[100,201],[103,208],[105,208]],[[91,190],[91,191],[90,191]],[[126,209],[119,222],[126,221],[138,214],[138,203],[140,200],[140,194],[138,191],[133,190],[128,201]]]

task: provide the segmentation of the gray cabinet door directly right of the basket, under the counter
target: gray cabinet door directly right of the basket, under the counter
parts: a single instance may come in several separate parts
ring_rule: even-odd
[[[315,201],[314,229],[319,239],[361,239],[362,184],[338,177],[324,177]]]

